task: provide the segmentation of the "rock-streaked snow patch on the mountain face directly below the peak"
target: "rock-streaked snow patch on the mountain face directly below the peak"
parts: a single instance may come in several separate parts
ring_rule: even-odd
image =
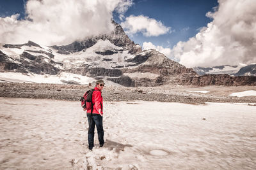
[[[53,60],[61,62],[63,69],[74,69],[84,65],[105,69],[128,67],[129,62],[127,60],[134,57],[128,50],[114,45],[108,39],[99,39],[95,45],[79,52],[63,55],[53,49],[52,53],[54,54]]]

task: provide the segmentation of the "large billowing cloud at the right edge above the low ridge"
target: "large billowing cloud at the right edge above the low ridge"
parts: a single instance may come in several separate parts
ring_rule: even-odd
[[[171,58],[187,67],[256,62],[255,1],[219,0],[207,17],[212,22],[195,37],[177,43]]]

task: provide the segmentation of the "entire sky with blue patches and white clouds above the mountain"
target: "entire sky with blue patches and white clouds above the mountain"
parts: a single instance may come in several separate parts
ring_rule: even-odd
[[[122,25],[187,67],[256,62],[255,0],[0,1],[0,43],[65,45]]]

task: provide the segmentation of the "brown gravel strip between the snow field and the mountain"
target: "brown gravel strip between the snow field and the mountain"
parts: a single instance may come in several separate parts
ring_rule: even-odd
[[[0,97],[28,97],[36,99],[58,99],[79,101],[88,85],[60,85],[43,83],[0,83]],[[188,92],[207,90],[209,93]],[[164,85],[161,87],[113,87],[106,86],[102,92],[104,101],[161,101],[189,104],[218,103],[256,103],[256,96],[233,97],[233,92],[256,90],[253,86],[180,86]]]

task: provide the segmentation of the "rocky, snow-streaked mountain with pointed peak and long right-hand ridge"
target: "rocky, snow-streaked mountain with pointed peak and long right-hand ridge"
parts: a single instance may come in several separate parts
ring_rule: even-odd
[[[102,78],[127,87],[180,85],[256,85],[255,78],[227,74],[199,76],[156,50],[141,50],[115,22],[115,30],[70,45],[0,45],[0,72]],[[226,83],[225,81],[228,81]],[[61,81],[61,82],[66,82]],[[74,82],[74,81],[73,81]],[[245,82],[245,83],[244,83]]]

